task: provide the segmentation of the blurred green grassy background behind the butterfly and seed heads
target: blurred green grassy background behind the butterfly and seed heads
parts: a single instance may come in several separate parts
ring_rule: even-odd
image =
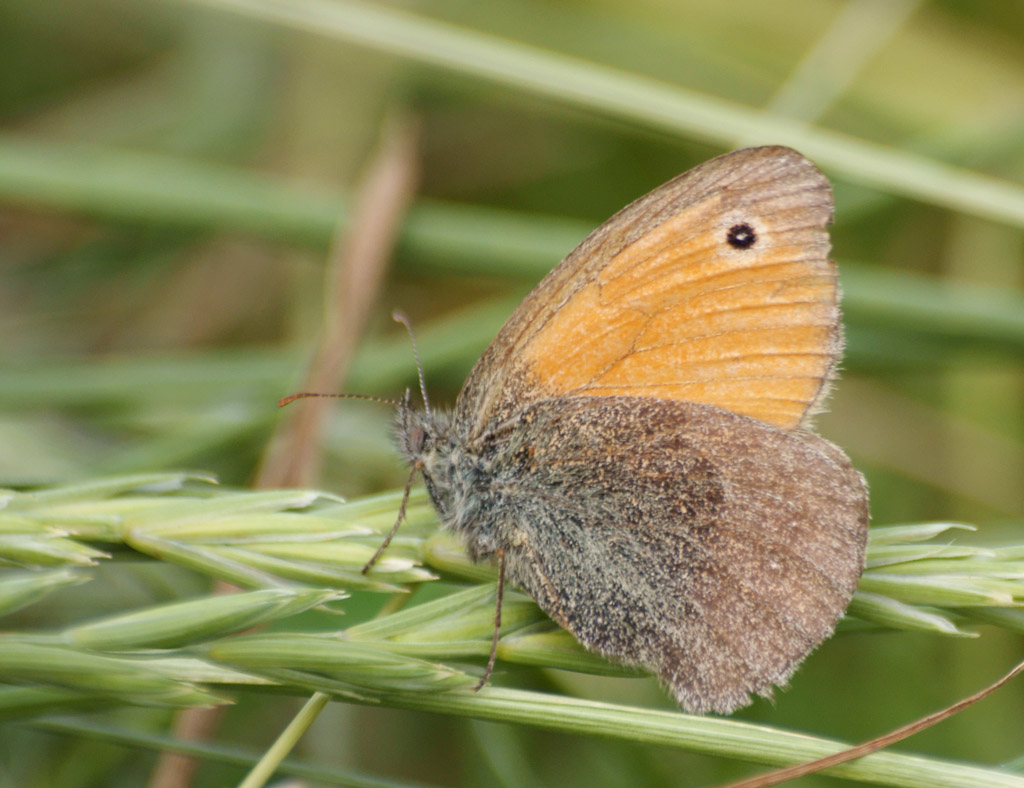
[[[332,7],[414,16],[339,21]],[[389,316],[400,307],[433,399],[453,401],[516,299],[588,229],[726,149],[794,144],[834,180],[847,293],[843,378],[819,430],[868,477],[876,524],[955,520],[979,527],[957,538],[1020,542],[1024,6],[999,0],[7,0],[0,485],[168,469],[252,483],[274,401],[316,343],[331,239],[395,117],[419,130],[416,202],[346,390],[414,384]],[[389,409],[333,413],[321,486],[399,487]],[[30,612],[58,625],[205,582],[129,563]],[[740,716],[870,737],[1024,652],[1020,636],[979,631],[843,633]],[[649,682],[530,681],[668,707]],[[294,708],[243,695],[216,739],[266,746]],[[143,716],[132,725],[169,726]],[[1024,752],[1022,731],[1018,682],[902,746],[998,763]],[[340,703],[303,754],[410,785],[707,785],[746,771]],[[0,786],[144,785],[153,761],[0,729]],[[194,785],[240,774],[209,764]]]

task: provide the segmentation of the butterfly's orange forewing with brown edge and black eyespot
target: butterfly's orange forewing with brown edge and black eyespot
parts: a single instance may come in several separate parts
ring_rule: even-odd
[[[830,219],[827,181],[796,151],[712,160],[556,267],[481,357],[460,407],[476,398],[493,418],[512,400],[654,397],[799,426],[842,349]],[[726,242],[737,224],[756,232],[752,248]]]

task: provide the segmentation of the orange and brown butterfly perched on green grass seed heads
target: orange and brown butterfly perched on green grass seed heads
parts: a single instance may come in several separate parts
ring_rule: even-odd
[[[556,266],[453,411],[398,409],[471,559],[689,711],[784,686],[863,568],[863,478],[809,426],[843,348],[831,217],[793,149],[713,159]]]

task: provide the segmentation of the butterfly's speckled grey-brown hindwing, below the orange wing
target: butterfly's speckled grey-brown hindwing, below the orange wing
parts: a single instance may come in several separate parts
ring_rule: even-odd
[[[843,453],[699,404],[546,400],[493,444],[485,507],[509,579],[586,647],[695,711],[768,694],[829,634],[867,508]],[[770,463],[761,457],[770,456]]]

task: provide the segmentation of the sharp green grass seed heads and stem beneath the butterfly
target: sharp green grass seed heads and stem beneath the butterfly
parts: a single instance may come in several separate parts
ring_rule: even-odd
[[[94,544],[109,551],[133,548],[154,560],[255,589],[150,605],[58,630],[8,630],[0,636],[0,675],[8,685],[0,689],[0,713],[32,719],[53,709],[54,693],[58,705],[68,707],[176,707],[227,702],[246,687],[279,687],[362,704],[674,744],[765,763],[817,757],[834,746],[782,730],[626,704],[495,687],[474,693],[475,673],[490,648],[497,578],[470,564],[437,532],[422,494],[412,499],[408,527],[396,543],[361,576],[360,567],[383,538],[397,502],[393,494],[343,502],[304,491],[220,490],[208,480],[180,474],[8,492],[0,530],[39,541],[59,533],[63,548],[56,554],[0,544],[0,561],[24,570],[3,578],[0,599],[9,587],[11,597],[24,603],[31,580],[38,602],[73,581],[91,579],[82,565],[112,560]],[[1008,578],[1021,574],[1017,557],[1024,544],[937,543],[951,527],[876,529],[850,627],[964,636],[972,633],[963,625],[975,612],[982,620],[986,612],[1019,613],[1024,584]],[[47,570],[57,555],[68,568]],[[271,564],[265,562],[268,555],[276,559]],[[354,625],[339,621],[338,628],[321,631],[290,628],[303,611],[340,612],[347,590],[404,596],[439,577],[478,582]],[[1021,620],[1001,623],[1020,627]],[[255,626],[270,631],[239,634]],[[502,633],[498,655],[503,665],[636,674],[584,651],[519,594],[508,594]],[[902,756],[888,753],[837,774],[901,786],[1020,782],[939,760],[909,770]]]

